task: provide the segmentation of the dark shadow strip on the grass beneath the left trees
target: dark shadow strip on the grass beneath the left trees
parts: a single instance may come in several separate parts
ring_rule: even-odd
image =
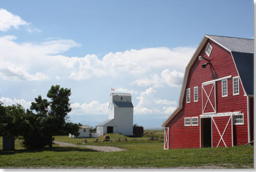
[[[36,152],[97,152],[93,149],[87,148],[79,148],[79,147],[72,147],[72,146],[53,146],[53,147],[45,147],[42,149],[15,149],[14,151],[3,151],[0,150],[0,155],[14,155],[18,153],[36,153]]]

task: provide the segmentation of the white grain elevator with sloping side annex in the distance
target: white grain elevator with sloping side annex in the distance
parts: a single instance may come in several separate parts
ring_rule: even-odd
[[[97,133],[133,134],[133,104],[130,93],[111,93],[108,120],[97,125]]]

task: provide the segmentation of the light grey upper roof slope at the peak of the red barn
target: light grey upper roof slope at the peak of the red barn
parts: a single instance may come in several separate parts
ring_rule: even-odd
[[[225,47],[227,50],[233,52],[253,53],[253,39],[215,35],[206,35],[206,37],[222,45],[222,47]]]

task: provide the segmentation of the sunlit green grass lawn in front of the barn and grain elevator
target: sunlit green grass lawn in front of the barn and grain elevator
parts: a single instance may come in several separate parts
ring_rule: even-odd
[[[86,138],[90,145],[118,146],[124,152],[95,152],[83,147],[60,147],[0,151],[0,168],[253,168],[253,146],[202,149],[163,149],[163,141],[146,141],[148,138],[128,138],[113,134],[113,142],[94,143],[95,138]],[[85,138],[55,136],[56,141],[80,145]],[[104,139],[105,137],[99,138]],[[122,138],[123,139],[123,138]],[[134,141],[137,139],[137,141]],[[144,141],[140,141],[143,139]],[[1,141],[1,138],[0,138]]]

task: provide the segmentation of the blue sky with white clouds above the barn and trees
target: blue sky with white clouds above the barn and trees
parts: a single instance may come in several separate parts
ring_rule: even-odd
[[[0,101],[29,109],[71,89],[69,121],[108,120],[111,88],[134,124],[160,128],[205,34],[253,38],[252,0],[0,1]]]

